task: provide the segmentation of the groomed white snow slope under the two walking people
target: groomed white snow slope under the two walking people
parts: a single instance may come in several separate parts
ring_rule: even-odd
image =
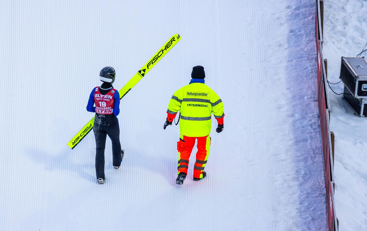
[[[1,230],[325,230],[315,2],[1,1]],[[173,34],[181,41],[121,101],[126,156],[97,185],[92,116],[111,65],[120,89]],[[225,105],[208,175],[175,184],[168,101],[203,65]],[[216,121],[213,120],[213,127]],[[195,149],[193,153],[195,153]]]

